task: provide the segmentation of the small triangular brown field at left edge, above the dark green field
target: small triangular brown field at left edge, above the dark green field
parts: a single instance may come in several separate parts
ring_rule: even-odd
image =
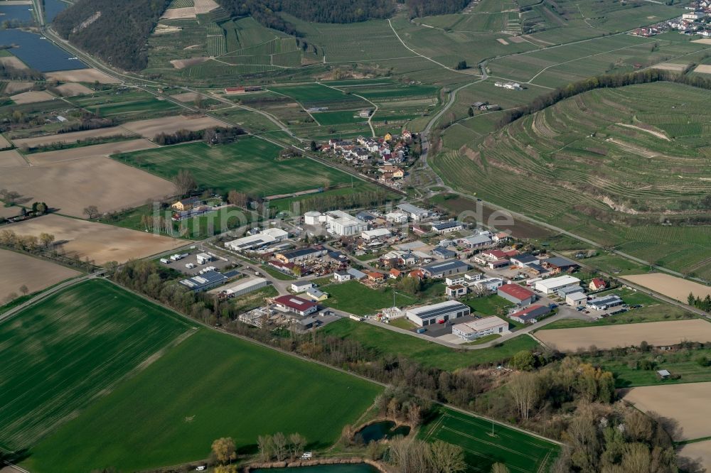
[[[0,301],[11,293],[23,295],[21,286],[25,286],[28,293],[36,293],[78,274],[59,264],[0,249]]]

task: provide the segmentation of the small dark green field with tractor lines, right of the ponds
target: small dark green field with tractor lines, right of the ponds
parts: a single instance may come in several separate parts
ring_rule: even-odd
[[[439,415],[418,435],[428,442],[442,440],[462,447],[468,473],[491,472],[497,462],[511,472],[547,472],[560,451],[558,445],[542,438],[447,408],[439,408]]]

